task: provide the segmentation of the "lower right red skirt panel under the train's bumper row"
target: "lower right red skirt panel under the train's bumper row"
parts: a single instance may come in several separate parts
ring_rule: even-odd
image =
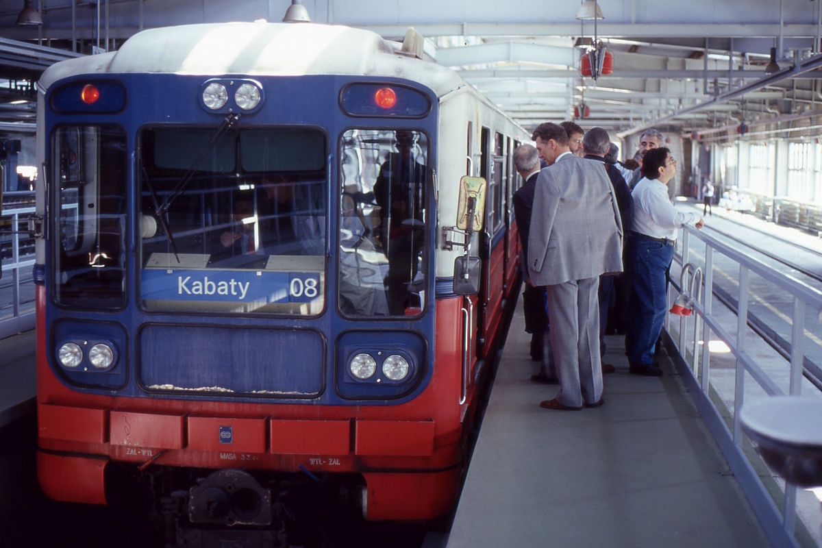
[[[363,474],[367,484],[366,518],[432,519],[450,512],[459,495],[459,469],[428,474]]]

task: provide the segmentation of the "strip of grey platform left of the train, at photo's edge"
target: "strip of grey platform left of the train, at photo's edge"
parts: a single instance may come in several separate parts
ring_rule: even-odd
[[[0,428],[35,410],[35,330],[0,340]]]

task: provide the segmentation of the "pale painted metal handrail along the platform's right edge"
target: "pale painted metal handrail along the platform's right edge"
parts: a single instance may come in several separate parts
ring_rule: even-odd
[[[682,267],[685,268],[693,268],[693,265],[688,263],[688,257],[690,252],[690,238],[695,237],[699,239],[701,242],[705,244],[705,265],[704,265],[704,292],[702,294],[702,299],[700,302],[699,298],[693,298],[691,300],[691,305],[693,306],[693,311],[695,314],[686,317],[681,317],[680,322],[680,336],[679,336],[679,344],[678,350],[680,352],[683,361],[686,362],[686,352],[685,352],[685,338],[687,332],[687,321],[690,317],[693,318],[693,334],[694,334],[694,342],[693,348],[694,351],[692,353],[692,368],[686,367],[686,371],[690,372],[691,380],[700,387],[702,391],[702,398],[700,399],[700,403],[704,403],[708,405],[710,408],[713,408],[713,412],[717,413],[716,417],[719,416],[718,409],[716,405],[711,401],[709,398],[709,390],[710,390],[710,352],[709,352],[709,345],[708,341],[712,338],[718,338],[723,341],[727,345],[727,348],[730,349],[732,355],[736,357],[736,382],[735,382],[735,389],[734,389],[734,410],[733,410],[733,427],[732,430],[728,430],[727,426],[722,423],[724,426],[723,429],[718,429],[721,431],[713,431],[714,435],[727,435],[727,441],[731,442],[728,444],[723,444],[722,440],[718,440],[721,446],[723,446],[723,450],[727,447],[732,447],[733,450],[736,451],[736,454],[728,455],[726,454],[726,458],[728,463],[736,462],[736,463],[745,463],[743,466],[737,464],[738,468],[734,469],[735,474],[738,478],[740,478],[740,483],[743,490],[746,491],[746,495],[748,495],[749,500],[752,497],[767,497],[768,501],[767,504],[756,504],[760,510],[764,512],[773,512],[775,513],[778,518],[781,518],[781,523],[783,527],[782,533],[785,535],[781,537],[782,541],[787,542],[787,546],[798,546],[796,542],[796,538],[794,537],[794,528],[796,524],[796,503],[797,503],[797,487],[792,486],[791,484],[785,484],[785,498],[783,509],[781,512],[776,509],[776,506],[769,498],[767,490],[765,490],[764,485],[762,484],[760,478],[755,473],[752,472],[753,468],[750,465],[750,461],[746,457],[746,454],[741,449],[742,444],[742,431],[741,431],[741,421],[740,421],[740,410],[742,406],[742,402],[744,399],[744,383],[745,383],[745,373],[749,373],[750,376],[756,381],[758,385],[764,391],[769,394],[769,396],[776,396],[776,395],[784,395],[783,389],[781,389],[777,383],[772,379],[766,371],[764,371],[750,355],[746,352],[746,329],[747,329],[747,317],[748,317],[748,299],[749,299],[749,291],[748,291],[748,280],[750,277],[750,273],[753,272],[758,274],[761,278],[769,280],[769,282],[774,283],[778,288],[783,289],[784,291],[789,292],[793,297],[793,318],[792,318],[792,346],[791,346],[791,357],[790,357],[790,367],[791,367],[791,376],[790,376],[790,388],[789,394],[791,395],[799,395],[801,393],[801,380],[804,368],[804,352],[803,352],[803,339],[805,338],[805,309],[807,305],[813,306],[815,309],[822,308],[822,292],[816,290],[815,288],[811,288],[810,286],[806,285],[806,283],[802,283],[800,280],[792,277],[788,274],[783,274],[778,272],[777,270],[771,268],[768,265],[765,265],[760,260],[756,260],[750,256],[746,256],[740,251],[728,246],[727,244],[720,242],[717,238],[710,236],[704,232],[701,232],[692,227],[685,227],[682,230],[683,237],[682,237]],[[723,256],[734,260],[739,264],[740,271],[739,271],[739,295],[737,301],[737,335],[734,337],[731,333],[727,331],[720,325],[717,317],[713,315],[712,306],[713,306],[713,252],[718,251]],[[681,288],[682,291],[685,288]],[[700,334],[700,321],[702,322],[702,329]],[[669,322],[666,321],[666,326],[669,325]],[[702,366],[700,368],[700,356],[696,352],[696,348],[699,345],[699,339],[703,341],[703,348],[702,348]],[[672,338],[673,341],[673,338]],[[687,362],[686,362],[687,363]],[[700,371],[701,369],[701,371]],[[700,375],[701,373],[701,375]],[[701,379],[699,378],[701,377]],[[732,457],[732,458],[730,458]],[[734,465],[732,465],[732,468]],[[747,478],[747,479],[742,479]],[[750,482],[758,482],[758,485],[755,486],[747,486],[745,485],[745,481]],[[760,500],[760,503],[762,501]],[[778,514],[781,513],[781,516]],[[772,516],[773,517],[773,516]],[[760,515],[760,519],[762,516]],[[763,520],[765,521],[765,520]],[[766,527],[766,532],[769,532],[768,527]],[[769,536],[775,534],[773,531],[769,532]]]

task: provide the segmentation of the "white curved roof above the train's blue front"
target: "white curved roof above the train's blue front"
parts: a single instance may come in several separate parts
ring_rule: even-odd
[[[468,84],[454,71],[396,53],[369,30],[315,23],[219,23],[144,30],[113,53],[58,62],[41,89],[77,74],[163,72],[220,76],[318,74],[394,76],[418,81],[438,97]]]

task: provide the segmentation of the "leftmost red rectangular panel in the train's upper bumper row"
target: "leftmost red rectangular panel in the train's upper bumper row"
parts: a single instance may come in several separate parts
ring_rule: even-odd
[[[38,435],[52,440],[104,444],[108,415],[103,409],[40,405],[37,409]]]

